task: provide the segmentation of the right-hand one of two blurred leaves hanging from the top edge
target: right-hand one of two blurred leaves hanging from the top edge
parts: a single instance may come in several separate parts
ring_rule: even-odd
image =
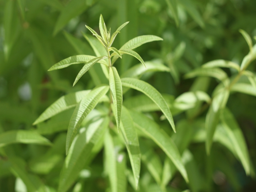
[[[197,11],[196,6],[190,0],[180,0],[180,4],[187,10],[188,14],[196,21],[196,23],[201,27],[204,28],[204,20],[201,17],[200,13]]]

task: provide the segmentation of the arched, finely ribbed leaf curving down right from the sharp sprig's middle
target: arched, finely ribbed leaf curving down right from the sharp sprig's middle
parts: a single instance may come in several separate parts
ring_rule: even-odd
[[[163,96],[152,85],[146,83],[145,81],[133,78],[122,78],[121,81],[123,86],[136,89],[147,95],[151,100],[153,100],[164,113],[167,120],[171,124],[173,131],[175,132],[175,125],[173,122],[171,111]]]

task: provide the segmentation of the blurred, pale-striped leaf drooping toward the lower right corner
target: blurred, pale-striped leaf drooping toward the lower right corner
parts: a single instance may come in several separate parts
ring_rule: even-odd
[[[250,159],[248,148],[246,147],[246,142],[244,139],[243,132],[241,131],[235,117],[232,113],[225,108],[220,115],[222,126],[226,130],[232,145],[239,157],[240,161],[244,166],[244,170],[247,175],[250,174]]]

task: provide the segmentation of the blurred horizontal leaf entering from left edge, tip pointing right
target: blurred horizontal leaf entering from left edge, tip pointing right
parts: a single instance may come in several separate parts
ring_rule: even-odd
[[[51,145],[51,142],[35,131],[12,130],[0,134],[0,147],[12,143]]]

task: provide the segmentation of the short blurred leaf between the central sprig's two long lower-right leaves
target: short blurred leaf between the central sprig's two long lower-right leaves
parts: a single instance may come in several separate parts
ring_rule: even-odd
[[[162,162],[160,157],[154,152],[152,147],[148,147],[145,143],[141,142],[141,160],[147,166],[148,171],[155,179],[158,185],[161,184],[162,175]]]

